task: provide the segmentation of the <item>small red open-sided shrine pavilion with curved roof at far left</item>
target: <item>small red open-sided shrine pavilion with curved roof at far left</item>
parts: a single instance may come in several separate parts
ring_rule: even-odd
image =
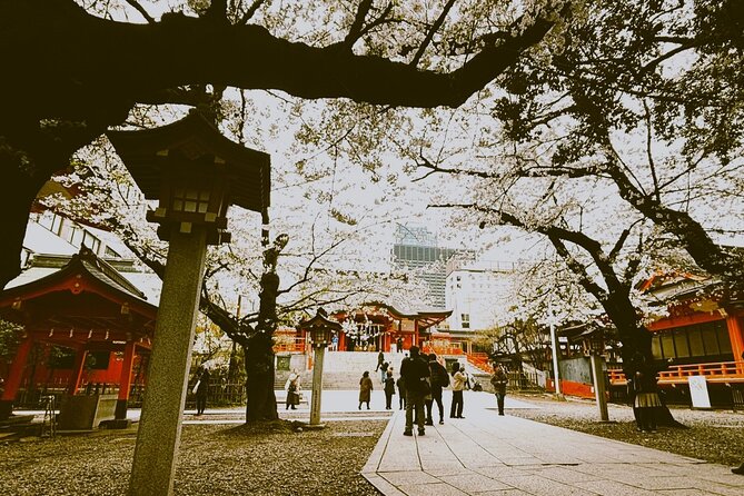
[[[130,393],[145,383],[157,310],[85,247],[59,270],[2,291],[0,318],[20,330],[14,357],[0,364],[0,419],[33,393],[80,391],[115,398],[125,419]]]

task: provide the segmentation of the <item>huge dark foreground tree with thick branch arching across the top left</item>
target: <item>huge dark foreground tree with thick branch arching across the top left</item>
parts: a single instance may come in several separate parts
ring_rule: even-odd
[[[562,3],[3,1],[0,173],[13,194],[0,199],[0,280],[20,270],[44,182],[142,106],[212,108],[237,88],[238,109],[265,91],[298,106],[457,107],[539,43]]]

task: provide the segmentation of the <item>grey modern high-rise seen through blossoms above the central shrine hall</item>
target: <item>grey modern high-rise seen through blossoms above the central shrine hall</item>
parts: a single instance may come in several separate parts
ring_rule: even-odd
[[[423,226],[398,225],[393,245],[393,262],[396,267],[420,269],[420,278],[429,286],[428,304],[445,307],[446,262],[455,254],[467,251],[439,248],[436,237]]]

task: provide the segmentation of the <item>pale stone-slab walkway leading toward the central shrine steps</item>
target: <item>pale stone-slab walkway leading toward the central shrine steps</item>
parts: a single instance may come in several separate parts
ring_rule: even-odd
[[[508,415],[524,406],[466,393],[465,419],[414,437],[396,411],[363,475],[386,496],[744,495],[728,467]]]

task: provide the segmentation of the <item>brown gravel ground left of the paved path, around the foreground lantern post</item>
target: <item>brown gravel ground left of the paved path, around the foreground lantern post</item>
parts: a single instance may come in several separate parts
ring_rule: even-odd
[[[297,431],[289,421],[185,425],[176,495],[349,495],[379,493],[359,475],[385,420],[330,421]],[[98,430],[0,444],[0,494],[121,495],[137,431]]]

